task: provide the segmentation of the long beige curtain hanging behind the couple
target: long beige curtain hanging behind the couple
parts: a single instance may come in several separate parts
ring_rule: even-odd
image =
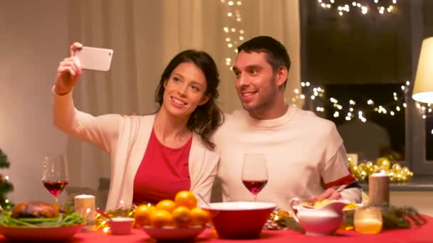
[[[114,50],[109,72],[84,72],[75,87],[75,106],[93,115],[155,112],[154,92],[165,65],[179,51],[196,48],[206,50],[216,61],[221,76],[219,104],[224,112],[231,112],[241,107],[229,69],[236,54],[234,48],[258,35],[273,36],[288,49],[292,66],[286,98],[290,100],[293,89],[299,87],[301,73],[298,0],[235,0],[232,3],[229,5],[229,0],[70,0],[70,42]],[[224,27],[229,28],[229,33]],[[233,47],[229,48],[229,43]],[[68,159],[71,185],[96,188],[98,178],[110,176],[108,155],[98,148],[69,139]]]

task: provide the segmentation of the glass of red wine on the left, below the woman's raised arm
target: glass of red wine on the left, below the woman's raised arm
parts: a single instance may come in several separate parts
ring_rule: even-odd
[[[46,156],[43,159],[42,183],[54,196],[57,204],[58,195],[68,185],[68,163],[65,156]]]

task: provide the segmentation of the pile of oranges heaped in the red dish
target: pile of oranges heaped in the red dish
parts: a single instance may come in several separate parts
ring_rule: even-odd
[[[134,212],[135,225],[162,227],[204,227],[209,222],[209,212],[197,207],[194,193],[182,190],[174,200],[161,200],[156,206],[139,205]]]

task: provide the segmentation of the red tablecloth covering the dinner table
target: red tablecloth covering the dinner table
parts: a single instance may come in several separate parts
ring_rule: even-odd
[[[425,216],[425,215],[424,215]],[[325,242],[345,242],[345,243],[358,243],[358,242],[380,242],[380,243],[432,243],[433,242],[433,217],[425,216],[428,220],[426,225],[422,227],[413,226],[410,229],[387,229],[380,234],[358,234],[357,232],[338,231],[334,236],[328,237],[314,237],[295,232],[293,230],[264,230],[259,239],[254,239],[254,242],[268,242],[268,243],[281,243],[281,242],[302,242],[302,243],[325,243]],[[245,240],[236,239],[215,239],[212,229],[206,229],[202,234],[194,240],[194,242],[245,242]],[[0,242],[6,242],[4,237],[0,238]],[[140,229],[133,229],[132,234],[127,235],[111,235],[104,234],[102,231],[98,232],[83,232],[75,234],[71,239],[66,242],[113,242],[113,243],[127,243],[127,242],[156,242],[155,239],[150,238],[144,231]]]

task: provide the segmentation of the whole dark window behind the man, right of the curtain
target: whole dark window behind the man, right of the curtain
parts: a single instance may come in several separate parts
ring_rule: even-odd
[[[362,122],[358,114],[347,121],[347,110],[335,117],[337,110],[330,97],[338,99],[344,109],[348,109],[350,99],[357,99],[354,110],[362,109],[367,121],[382,128],[377,129],[378,133],[385,130],[382,134],[389,136],[389,146],[386,138],[378,142],[369,136],[356,135],[359,143],[347,147],[365,144],[367,148],[374,141],[377,142],[376,148],[372,148],[374,152],[361,151],[364,154],[360,159],[374,160],[375,156],[392,153],[416,175],[433,175],[433,149],[426,150],[426,147],[433,148],[433,117],[422,119],[411,98],[422,39],[433,36],[433,15],[429,14],[433,1],[397,1],[395,11],[385,14],[375,11],[374,6],[366,14],[352,8],[343,16],[333,9],[336,4],[324,9],[318,1],[310,0],[300,1],[300,7],[302,80],[325,89],[323,101],[308,100],[306,96],[308,109],[335,121],[340,134],[348,141],[350,132],[345,134],[345,124],[352,122],[350,126],[358,131],[353,121]],[[406,86],[407,80],[409,86]],[[402,86],[406,93],[398,92]],[[394,92],[397,92],[398,102],[385,107],[384,104],[394,99]],[[367,106],[367,97],[375,102],[374,107]],[[400,104],[403,103],[407,109],[402,109]],[[397,104],[402,112],[396,112]],[[372,112],[372,108],[379,105],[387,109],[386,115]],[[317,106],[325,107],[325,112],[315,109]],[[394,116],[390,115],[390,110]]]

